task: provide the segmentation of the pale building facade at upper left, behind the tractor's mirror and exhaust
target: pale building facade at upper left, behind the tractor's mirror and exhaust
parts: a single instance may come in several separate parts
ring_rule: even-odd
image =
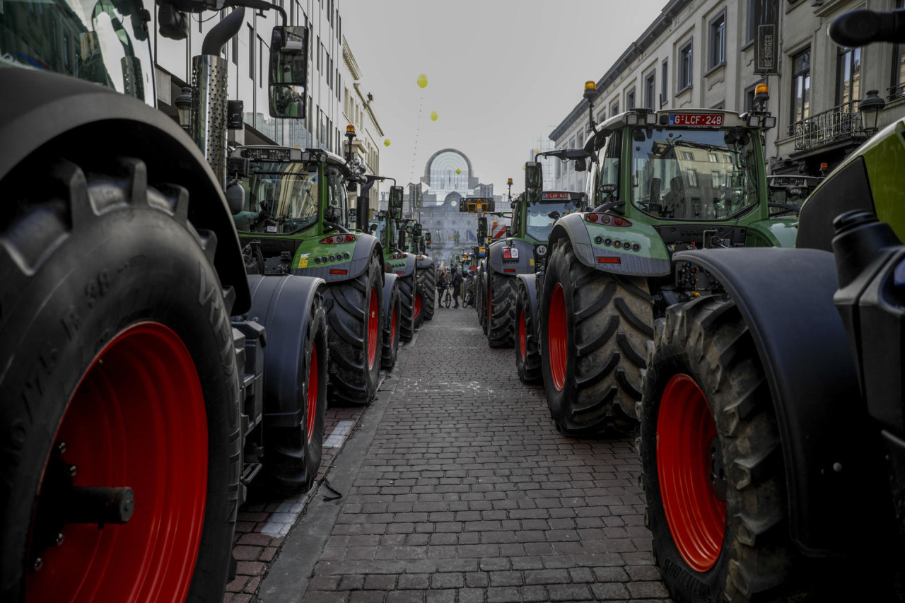
[[[344,61],[348,42],[343,36],[340,0],[278,0],[277,4],[286,12],[287,24],[309,28],[307,115],[301,120],[271,118],[267,67],[271,29],[282,24],[281,16],[273,10],[259,14],[246,9],[242,30],[223,51],[228,61],[229,99],[243,101],[244,111],[244,128],[231,130],[231,140],[235,144],[325,148],[342,155],[347,125],[343,98],[355,81],[349,79]],[[152,12],[154,23],[150,29],[154,32],[157,105],[161,110],[176,117],[174,101],[191,80],[192,57],[201,53],[205,35],[230,12],[231,9],[224,9],[216,14],[190,14],[188,37],[179,41],[159,34],[157,13]],[[369,112],[372,130],[379,131],[373,110]],[[363,159],[369,167],[376,167],[379,148],[376,144],[371,146],[375,149],[373,157]]]

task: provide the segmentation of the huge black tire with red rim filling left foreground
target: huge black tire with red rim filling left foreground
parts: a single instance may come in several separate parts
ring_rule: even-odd
[[[95,165],[35,158],[2,184],[0,600],[219,601],[242,459],[233,292],[185,188],[148,186],[136,158]]]

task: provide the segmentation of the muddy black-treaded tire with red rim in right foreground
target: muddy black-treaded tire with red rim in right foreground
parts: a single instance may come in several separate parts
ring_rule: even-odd
[[[641,415],[645,517],[675,601],[827,600],[796,598],[776,416],[734,302],[657,321]]]

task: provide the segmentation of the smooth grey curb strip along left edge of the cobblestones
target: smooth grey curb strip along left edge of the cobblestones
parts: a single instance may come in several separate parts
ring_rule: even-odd
[[[374,441],[377,427],[384,418],[386,407],[393,399],[399,379],[405,372],[408,357],[412,353],[414,343],[418,340],[417,331],[411,341],[399,349],[399,356],[393,372],[384,379],[377,389],[376,396],[370,406],[358,420],[358,424],[348,437],[341,452],[334,459],[325,479],[339,493],[348,493],[355,483],[358,471],[365,461],[368,448]],[[262,603],[301,603],[305,591],[314,574],[314,567],[320,559],[320,553],[327,544],[333,526],[345,501],[340,498],[325,501],[321,494],[323,480],[318,488],[309,494],[305,512],[283,541],[279,556],[271,564],[267,576],[262,580],[256,599]]]

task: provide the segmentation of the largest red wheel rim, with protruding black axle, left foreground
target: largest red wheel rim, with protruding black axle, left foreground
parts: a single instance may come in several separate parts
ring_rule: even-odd
[[[185,600],[205,518],[207,417],[176,333],[145,322],[111,340],[82,376],[56,442],[65,443],[62,461],[77,467],[72,485],[129,486],[135,511],[102,530],[64,524],[59,547],[34,550],[32,541],[43,564],[26,579],[25,599]]]

